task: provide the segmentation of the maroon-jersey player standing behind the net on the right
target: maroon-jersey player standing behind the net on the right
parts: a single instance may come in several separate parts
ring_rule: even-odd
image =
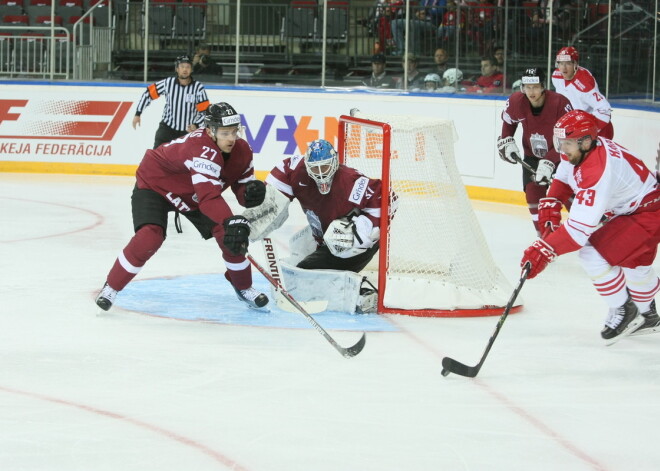
[[[523,167],[522,185],[538,235],[541,235],[539,200],[545,196],[555,167],[559,165],[559,154],[552,146],[552,129],[559,118],[573,109],[565,96],[545,89],[545,77],[540,68],[525,70],[520,91],[514,92],[504,105],[502,134],[497,140],[502,160],[515,164],[518,163],[516,159],[522,158],[535,170],[533,173]],[[524,155],[513,139],[518,124],[523,128]]]

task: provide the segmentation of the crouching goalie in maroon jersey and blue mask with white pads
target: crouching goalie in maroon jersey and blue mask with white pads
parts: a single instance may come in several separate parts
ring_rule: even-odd
[[[291,237],[289,255],[281,260],[271,241],[264,244],[289,294],[314,303],[309,308],[315,312],[375,311],[377,292],[358,272],[379,249],[381,181],[340,165],[332,144],[319,139],[304,156],[273,168],[266,183],[264,203],[243,213],[252,241],[279,228],[294,199],[309,223]]]

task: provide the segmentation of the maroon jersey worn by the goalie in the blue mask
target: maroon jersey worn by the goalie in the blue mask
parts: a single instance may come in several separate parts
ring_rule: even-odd
[[[330,192],[325,195],[319,192],[316,182],[307,174],[304,159],[299,155],[284,159],[273,168],[266,183],[289,199],[298,199],[319,243],[332,221],[356,208],[371,220],[374,227],[380,225],[381,181],[368,178],[351,167],[339,166]]]

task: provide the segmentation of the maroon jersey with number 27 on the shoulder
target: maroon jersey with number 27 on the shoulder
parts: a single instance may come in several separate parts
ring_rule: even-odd
[[[231,153],[224,154],[205,129],[149,149],[137,169],[138,188],[163,195],[181,212],[199,209],[219,224],[232,215],[222,192],[231,187],[244,204],[244,184],[253,179],[248,143],[237,139]]]

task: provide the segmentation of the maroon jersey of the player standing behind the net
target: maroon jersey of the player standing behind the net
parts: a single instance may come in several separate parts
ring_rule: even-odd
[[[553,128],[557,120],[572,109],[568,98],[546,90],[543,109],[540,114],[534,115],[525,94],[515,92],[506,101],[502,111],[502,137],[513,136],[518,124],[522,124],[525,155],[548,159],[557,165],[559,154],[552,143]]]

